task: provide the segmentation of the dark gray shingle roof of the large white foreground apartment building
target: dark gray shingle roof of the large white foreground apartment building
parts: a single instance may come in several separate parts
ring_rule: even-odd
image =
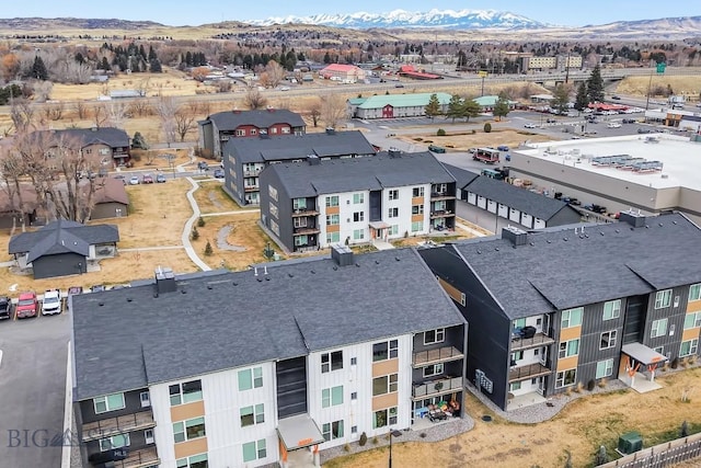
[[[74,296],[77,398],[464,323],[413,249],[355,262],[189,275],[158,297],[153,285]]]

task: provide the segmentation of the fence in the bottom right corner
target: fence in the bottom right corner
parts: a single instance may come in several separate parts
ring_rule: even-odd
[[[645,448],[599,466],[605,468],[664,468],[697,457],[701,457],[701,433]]]

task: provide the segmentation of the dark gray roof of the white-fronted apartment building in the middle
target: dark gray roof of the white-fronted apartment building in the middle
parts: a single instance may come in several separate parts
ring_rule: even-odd
[[[452,175],[429,151],[390,157],[337,159],[272,164],[262,172],[277,173],[290,197],[318,196],[356,190],[381,190],[426,183],[453,183]],[[264,180],[264,179],[263,179]]]

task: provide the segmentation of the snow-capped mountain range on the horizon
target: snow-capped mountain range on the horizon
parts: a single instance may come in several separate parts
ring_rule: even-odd
[[[370,27],[443,27],[456,30],[530,28],[547,27],[547,24],[526,16],[496,10],[430,10],[411,12],[394,10],[389,13],[314,14],[312,16],[277,16],[251,20],[244,23],[269,26],[272,24],[318,24],[334,27],[367,30]]]

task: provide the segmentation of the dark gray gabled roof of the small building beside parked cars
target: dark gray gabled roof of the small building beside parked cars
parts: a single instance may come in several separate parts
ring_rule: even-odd
[[[119,230],[115,225],[85,226],[59,219],[33,232],[22,232],[10,239],[10,254],[28,252],[27,262],[39,256],[74,252],[88,255],[90,246],[117,242]]]

